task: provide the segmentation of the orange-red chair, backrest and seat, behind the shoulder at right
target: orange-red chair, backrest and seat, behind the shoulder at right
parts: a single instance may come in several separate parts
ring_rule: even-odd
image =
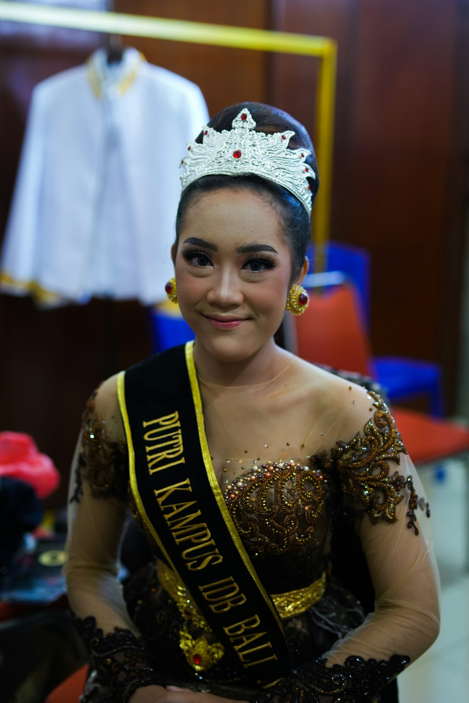
[[[309,307],[295,317],[295,325],[302,359],[375,378],[366,326],[352,285],[311,292]],[[392,413],[415,463],[469,452],[467,427],[407,408],[393,406]]]

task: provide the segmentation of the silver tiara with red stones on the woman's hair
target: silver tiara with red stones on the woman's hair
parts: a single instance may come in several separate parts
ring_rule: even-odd
[[[311,151],[288,149],[295,132],[264,134],[255,131],[256,123],[248,108],[241,110],[231,126],[233,129],[219,132],[205,125],[202,143],[188,143],[188,155],[181,161],[183,191],[202,176],[255,174],[293,193],[310,215],[311,186],[307,179],[315,179],[316,174],[304,163]]]

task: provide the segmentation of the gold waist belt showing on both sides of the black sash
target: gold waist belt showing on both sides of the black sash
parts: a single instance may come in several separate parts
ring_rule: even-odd
[[[174,602],[176,602],[182,617],[184,617],[185,620],[193,621],[196,627],[203,628],[204,630],[207,630],[207,628],[210,629],[195,603],[188,597],[184,583],[182,583],[172,569],[160,559],[157,565],[157,575],[162,587],[165,588],[165,591],[167,591],[171,598],[174,599]],[[322,576],[316,579],[316,581],[313,581],[310,586],[297,588],[296,591],[288,591],[288,593],[271,593],[271,599],[272,602],[274,602],[279,616],[281,619],[285,620],[289,617],[304,613],[311,605],[321,600],[325,590],[326,572],[323,572]]]

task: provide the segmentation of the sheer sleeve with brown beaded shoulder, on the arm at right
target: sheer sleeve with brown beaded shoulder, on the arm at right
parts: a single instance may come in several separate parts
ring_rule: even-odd
[[[320,659],[264,694],[263,703],[368,700],[439,632],[439,578],[423,486],[385,402],[357,387],[353,398],[344,424],[352,439],[336,444],[328,470],[361,539],[375,609]]]

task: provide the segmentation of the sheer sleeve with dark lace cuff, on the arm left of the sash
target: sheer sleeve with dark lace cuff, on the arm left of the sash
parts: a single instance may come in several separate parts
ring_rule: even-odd
[[[72,462],[65,577],[91,665],[105,677],[116,701],[124,703],[138,688],[160,683],[117,579],[127,525],[128,472],[111,378],[86,404]]]

